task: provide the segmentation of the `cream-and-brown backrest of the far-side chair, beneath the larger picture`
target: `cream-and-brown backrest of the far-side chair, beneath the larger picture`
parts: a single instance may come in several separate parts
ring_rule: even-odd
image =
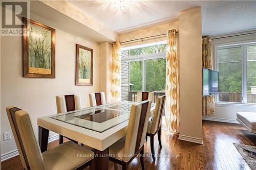
[[[81,95],[57,95],[56,96],[57,113],[63,113],[82,109]]]

